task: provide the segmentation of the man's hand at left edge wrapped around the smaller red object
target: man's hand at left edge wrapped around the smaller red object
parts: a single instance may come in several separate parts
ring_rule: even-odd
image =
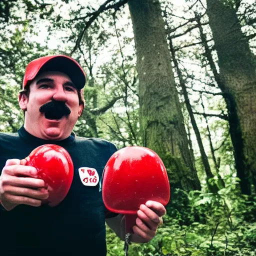
[[[8,159],[0,175],[0,202],[6,210],[18,204],[40,206],[49,196],[45,183],[37,178],[32,166],[22,165],[22,160]]]

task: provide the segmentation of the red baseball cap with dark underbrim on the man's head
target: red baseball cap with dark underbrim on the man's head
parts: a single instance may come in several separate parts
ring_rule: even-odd
[[[22,89],[43,71],[59,71],[67,74],[78,90],[86,83],[86,76],[77,61],[65,55],[51,55],[32,60],[26,66]]]

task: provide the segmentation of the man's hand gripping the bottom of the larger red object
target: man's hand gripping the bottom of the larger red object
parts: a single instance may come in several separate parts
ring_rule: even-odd
[[[136,225],[133,226],[134,234],[142,240],[132,237],[131,240],[138,242],[148,242],[156,234],[161,217],[166,213],[164,206],[156,201],[147,201],[139,206],[137,211]]]

